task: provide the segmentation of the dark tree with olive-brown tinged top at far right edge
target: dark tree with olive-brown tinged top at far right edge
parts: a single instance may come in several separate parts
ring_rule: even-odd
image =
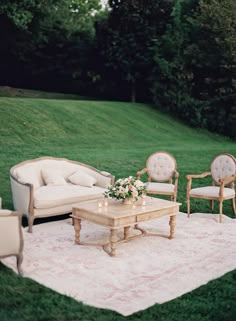
[[[236,106],[236,2],[200,0],[189,20],[191,41],[186,59],[194,75],[193,96],[202,101],[207,128],[230,134]]]

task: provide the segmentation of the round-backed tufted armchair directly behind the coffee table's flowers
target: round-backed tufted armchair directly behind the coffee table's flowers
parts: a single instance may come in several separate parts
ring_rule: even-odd
[[[137,172],[148,175],[147,194],[170,195],[172,201],[177,199],[178,178],[175,158],[164,151],[151,154],[146,160],[146,167]]]

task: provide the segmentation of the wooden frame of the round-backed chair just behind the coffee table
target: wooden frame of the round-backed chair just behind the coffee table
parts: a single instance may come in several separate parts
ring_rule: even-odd
[[[156,157],[157,155],[163,155],[169,159],[171,159],[173,161],[173,170],[170,173],[170,175],[168,176],[168,178],[165,179],[157,179],[154,178],[149,170],[149,161],[153,158]],[[176,202],[177,200],[177,191],[178,191],[178,179],[179,179],[179,173],[177,171],[177,164],[176,164],[176,160],[173,157],[173,155],[171,155],[168,152],[165,151],[158,151],[155,152],[153,154],[151,154],[147,160],[146,160],[146,167],[144,167],[142,170],[137,172],[137,178],[141,179],[141,175],[146,174],[148,175],[148,182],[158,182],[158,183],[164,183],[167,182],[167,184],[173,184],[174,185],[174,189],[172,192],[167,192],[164,189],[163,190],[158,190],[156,191],[155,189],[151,189],[151,188],[147,188],[147,194],[156,194],[156,195],[170,195],[170,200]],[[174,181],[174,182],[173,182]]]

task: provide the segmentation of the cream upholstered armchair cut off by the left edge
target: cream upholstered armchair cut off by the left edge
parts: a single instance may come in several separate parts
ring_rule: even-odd
[[[17,270],[23,274],[23,232],[22,214],[0,209],[0,260],[8,256],[16,256]]]

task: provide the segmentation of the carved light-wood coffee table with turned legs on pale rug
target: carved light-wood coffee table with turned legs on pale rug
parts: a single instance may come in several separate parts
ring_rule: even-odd
[[[102,246],[110,255],[116,255],[116,246],[118,243],[127,242],[143,236],[164,236],[172,239],[176,224],[176,215],[179,213],[180,203],[171,202],[154,197],[146,197],[145,205],[131,204],[124,205],[122,201],[109,200],[108,206],[99,207],[98,201],[86,201],[75,205],[72,209],[73,223],[75,229],[75,243],[80,245]],[[152,219],[169,216],[170,234],[148,233],[139,227],[138,223]],[[110,228],[110,239],[107,243],[87,243],[80,241],[81,221],[86,220]],[[129,229],[133,226],[140,233],[138,235],[129,235]],[[117,230],[123,228],[124,235],[118,238]]]

